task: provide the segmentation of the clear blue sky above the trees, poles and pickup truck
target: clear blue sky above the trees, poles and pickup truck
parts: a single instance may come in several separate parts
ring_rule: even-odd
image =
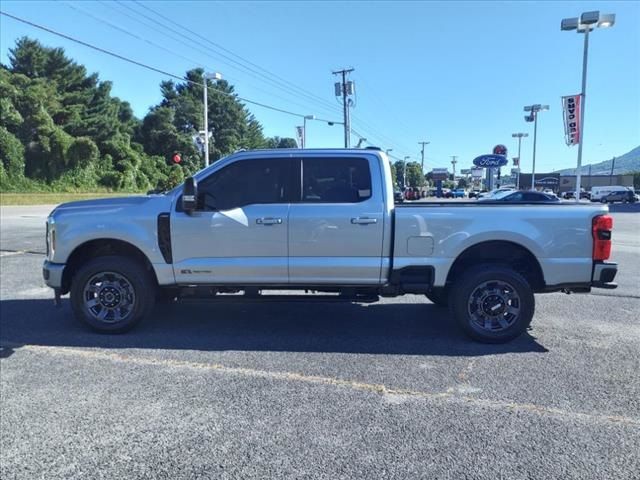
[[[132,2],[12,2],[1,9],[160,69],[221,72],[249,99],[301,114],[341,120],[332,70],[355,68],[353,125],[372,144],[419,159],[425,169],[458,169],[503,143],[517,154],[513,132],[528,132],[523,171],[531,169],[533,125],[522,108],[548,104],[539,117],[536,171],[573,167],[577,147],[564,143],[560,97],[580,91],[583,36],[560,31],[581,12],[615,13],[611,29],[590,36],[583,163],[607,160],[640,144],[640,4],[638,2],[145,2],[173,29]],[[73,8],[72,8],[73,7]],[[130,32],[126,35],[103,21]],[[207,39],[291,82],[240,69]],[[113,82],[113,93],[143,116],[160,99],[165,77],[0,17],[0,59],[29,35],[62,46],[89,71]],[[181,35],[176,35],[176,31]],[[132,36],[133,35],[133,36]],[[136,38],[137,37],[137,38]],[[161,45],[164,49],[152,44]],[[229,56],[228,53],[222,52]],[[318,98],[319,97],[319,98]],[[295,136],[301,120],[249,106],[266,135]],[[354,137],[354,143],[357,137]],[[341,126],[309,122],[307,146],[342,146]]]

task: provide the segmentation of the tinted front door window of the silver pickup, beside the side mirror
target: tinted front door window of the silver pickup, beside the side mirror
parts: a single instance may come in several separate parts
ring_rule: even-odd
[[[287,203],[288,159],[239,160],[198,185],[203,210],[231,210],[252,204]]]

